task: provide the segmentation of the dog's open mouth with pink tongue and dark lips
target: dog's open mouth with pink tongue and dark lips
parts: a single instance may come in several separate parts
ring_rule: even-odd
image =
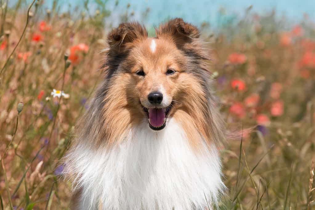
[[[148,116],[149,127],[152,130],[162,130],[165,128],[166,119],[169,115],[169,111],[171,110],[171,106],[169,105],[166,108],[145,108],[143,107],[144,112]]]

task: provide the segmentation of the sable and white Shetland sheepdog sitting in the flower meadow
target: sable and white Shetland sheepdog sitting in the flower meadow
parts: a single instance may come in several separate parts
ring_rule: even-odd
[[[107,36],[104,80],[65,157],[73,209],[213,209],[225,191],[209,50],[182,19],[155,32],[131,22]]]

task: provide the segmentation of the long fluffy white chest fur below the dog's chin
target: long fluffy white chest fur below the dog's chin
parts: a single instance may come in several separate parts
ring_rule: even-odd
[[[161,131],[146,122],[107,151],[79,144],[66,157],[72,164],[66,173],[75,172],[83,189],[79,209],[101,203],[106,210],[204,210],[217,204],[225,186],[215,146],[200,150],[192,151],[174,119]]]

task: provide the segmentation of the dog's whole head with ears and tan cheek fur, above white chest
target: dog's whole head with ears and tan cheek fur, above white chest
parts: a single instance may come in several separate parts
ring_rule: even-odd
[[[199,36],[195,26],[179,18],[161,24],[154,38],[136,22],[122,23],[108,34],[106,79],[96,96],[104,135],[112,138],[144,119],[158,131],[175,118],[186,133],[213,137],[217,124],[209,56]]]

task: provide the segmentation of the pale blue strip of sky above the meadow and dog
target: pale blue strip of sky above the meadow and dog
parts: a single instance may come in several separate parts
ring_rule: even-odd
[[[30,0],[26,1],[30,2]],[[83,0],[59,0],[58,2],[63,9],[67,9],[69,3],[83,5]],[[95,9],[94,2],[95,0],[90,0],[91,10]],[[51,7],[51,3],[52,0],[45,1],[47,7]],[[252,10],[258,14],[265,14],[275,9],[278,17],[285,15],[288,22],[292,22],[292,24],[299,23],[304,13],[315,21],[315,0],[118,0],[118,6],[114,10],[115,0],[109,0],[107,5],[113,11],[112,21],[114,25],[118,24],[118,17],[126,11],[128,3],[131,5],[129,11],[135,12],[133,19],[139,21],[142,21],[141,14],[146,8],[150,8],[146,21],[146,24],[149,25],[157,25],[168,17],[182,17],[197,25],[204,21],[215,25],[216,15],[221,7],[226,9],[227,15],[241,16],[250,5],[253,5]]]

